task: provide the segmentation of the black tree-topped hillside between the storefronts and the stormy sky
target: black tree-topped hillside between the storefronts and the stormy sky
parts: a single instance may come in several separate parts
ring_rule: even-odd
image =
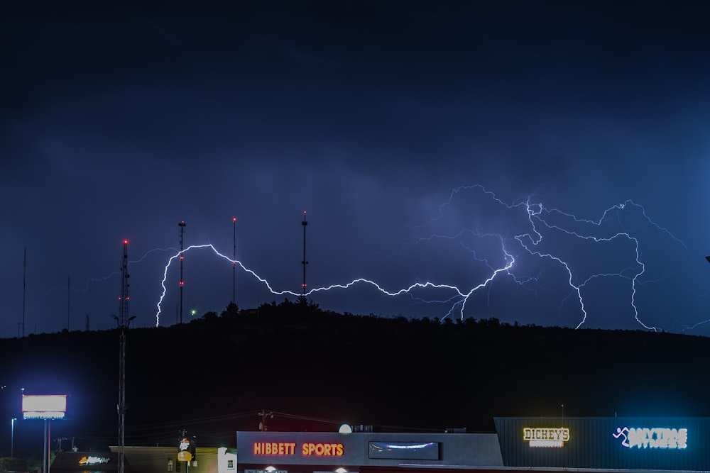
[[[493,431],[493,416],[710,415],[699,369],[707,338],[360,317],[290,302],[210,315],[129,330],[126,445],[168,445],[182,428],[202,445],[232,445],[236,430],[258,429],[261,409],[274,413],[270,430],[347,421]],[[116,330],[0,340],[0,355],[9,361],[3,418],[20,417],[20,387],[67,393],[71,418],[53,421],[53,438],[118,443]],[[16,421],[17,452],[41,448],[41,423]],[[1,445],[9,436],[10,425],[0,429]]]

